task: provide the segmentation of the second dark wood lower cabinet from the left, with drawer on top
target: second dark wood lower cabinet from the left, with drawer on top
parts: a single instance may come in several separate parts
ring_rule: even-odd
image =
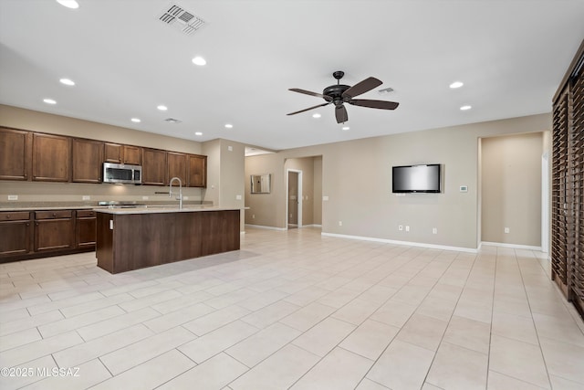
[[[35,252],[75,248],[73,211],[35,212]]]

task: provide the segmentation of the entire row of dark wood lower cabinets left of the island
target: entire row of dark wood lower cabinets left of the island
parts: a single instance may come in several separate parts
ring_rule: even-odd
[[[0,212],[0,263],[95,250],[93,210]]]

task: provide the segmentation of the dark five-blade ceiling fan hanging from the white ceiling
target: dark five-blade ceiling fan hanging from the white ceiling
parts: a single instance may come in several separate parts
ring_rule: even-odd
[[[379,87],[382,82],[379,79],[367,78],[364,79],[352,87],[348,85],[340,84],[340,79],[343,78],[345,72],[338,70],[332,74],[332,77],[337,79],[337,85],[331,85],[325,88],[322,93],[311,92],[309,90],[300,90],[298,88],[291,88],[294,92],[304,93],[305,95],[316,96],[317,98],[322,98],[327,100],[326,103],[318,104],[314,107],[309,107],[305,110],[300,110],[296,112],[290,112],[287,115],[295,115],[300,112],[318,109],[318,107],[327,106],[330,103],[335,105],[335,117],[337,118],[337,123],[344,123],[349,121],[349,116],[347,115],[347,109],[344,103],[352,104],[353,106],[369,107],[371,109],[381,109],[381,110],[395,110],[400,103],[395,101],[386,100],[367,100],[367,99],[353,99],[360,94],[373,90]]]

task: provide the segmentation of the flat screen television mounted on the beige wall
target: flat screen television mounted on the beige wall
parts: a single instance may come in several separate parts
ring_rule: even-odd
[[[392,168],[393,193],[440,193],[439,163],[405,165]]]

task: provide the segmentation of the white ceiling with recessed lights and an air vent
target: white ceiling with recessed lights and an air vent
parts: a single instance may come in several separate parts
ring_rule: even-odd
[[[172,3],[202,18],[203,28],[186,36],[158,20]],[[584,37],[582,0],[172,3],[78,0],[69,9],[53,0],[0,0],[0,103],[282,150],[549,112]],[[195,56],[207,65],[193,65]],[[332,105],[286,115],[324,102],[287,89],[321,92],[336,83],[335,70],[349,85],[381,79],[360,99],[400,107],[347,105],[349,131]],[[450,90],[454,80],[464,87]],[[388,87],[394,91],[377,91]],[[473,109],[460,111],[465,104]]]

